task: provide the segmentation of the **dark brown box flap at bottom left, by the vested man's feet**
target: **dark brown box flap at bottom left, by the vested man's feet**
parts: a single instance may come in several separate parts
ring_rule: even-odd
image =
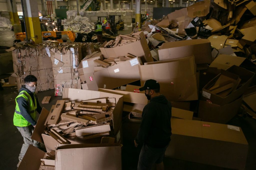
[[[44,155],[44,151],[34,147],[33,145],[29,145],[17,170],[39,169],[41,159],[44,158]]]

